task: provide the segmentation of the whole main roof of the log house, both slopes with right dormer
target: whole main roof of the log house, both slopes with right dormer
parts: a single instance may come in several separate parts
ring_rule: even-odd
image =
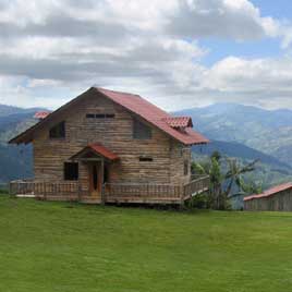
[[[109,90],[105,88],[92,87],[87,92],[72,99],[66,105],[62,106],[58,110],[48,114],[45,119],[40,120],[40,122],[37,123],[36,125],[27,129],[25,132],[12,138],[9,143],[16,143],[16,144],[31,143],[34,139],[35,131],[40,129],[46,122],[52,121],[54,117],[58,115],[60,112],[77,104],[83,97],[86,97],[87,94],[93,93],[93,90],[104,95],[105,97],[122,106],[124,109],[131,111],[132,113],[143,118],[148,123],[163,131],[166,134],[181,142],[184,145],[206,144],[209,142],[202,134],[193,131],[193,129],[191,127],[192,126],[191,118],[182,117],[181,120],[179,117],[173,118],[166,111],[159,109],[158,107],[143,99],[138,95],[125,94],[125,93],[113,92],[113,90]],[[183,124],[183,125],[186,124],[186,127],[184,127],[184,131],[179,131],[175,127],[172,127],[169,124],[169,121],[172,121],[171,123],[174,123],[173,121],[177,121],[175,124]]]

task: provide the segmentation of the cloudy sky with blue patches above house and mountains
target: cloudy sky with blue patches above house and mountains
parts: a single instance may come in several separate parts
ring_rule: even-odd
[[[0,0],[0,104],[56,109],[93,85],[292,109],[291,1]]]

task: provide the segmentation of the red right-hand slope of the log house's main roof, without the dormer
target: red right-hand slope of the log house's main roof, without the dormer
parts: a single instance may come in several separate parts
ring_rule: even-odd
[[[169,134],[170,136],[172,136],[173,138],[180,141],[185,145],[206,144],[209,142],[202,134],[193,131],[191,126],[186,127],[184,132],[179,132],[178,130],[173,129],[167,122],[169,119],[173,119],[172,115],[159,109],[158,107],[154,106],[153,104],[148,102],[147,100],[143,99],[138,95],[112,92],[105,88],[97,88],[97,87],[95,88],[97,92],[104,94],[112,101],[136,113],[144,120],[154,124],[165,133]],[[185,117],[183,117],[182,120],[185,121]]]

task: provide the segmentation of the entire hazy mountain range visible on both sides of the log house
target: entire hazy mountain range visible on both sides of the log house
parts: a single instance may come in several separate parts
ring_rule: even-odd
[[[33,175],[31,146],[8,146],[7,142],[36,123],[33,117],[39,110],[44,109],[0,105],[0,183]],[[216,104],[174,114],[191,115],[194,129],[211,141],[209,145],[193,147],[195,157],[219,150],[241,161],[259,159],[260,165],[253,175],[264,185],[292,180],[291,110]]]

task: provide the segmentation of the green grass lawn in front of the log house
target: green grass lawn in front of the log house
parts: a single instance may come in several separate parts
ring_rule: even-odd
[[[289,291],[292,214],[0,196],[0,291]]]

